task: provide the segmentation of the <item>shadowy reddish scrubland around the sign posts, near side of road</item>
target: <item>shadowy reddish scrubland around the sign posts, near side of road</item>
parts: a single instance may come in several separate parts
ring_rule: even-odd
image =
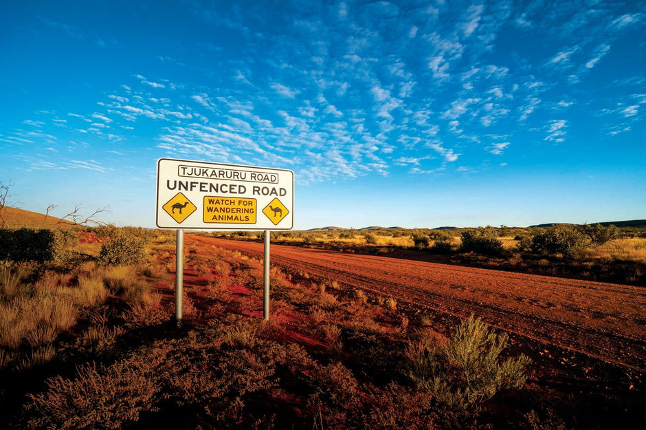
[[[491,427],[502,422],[495,395],[527,377],[528,358],[473,316],[443,336],[394,297],[307,273],[272,269],[265,322],[261,261],[219,248],[186,249],[202,288],[186,293],[179,330],[173,236],[104,227],[67,238],[65,257],[3,255],[0,421],[10,428]],[[536,414],[504,420],[530,426]]]

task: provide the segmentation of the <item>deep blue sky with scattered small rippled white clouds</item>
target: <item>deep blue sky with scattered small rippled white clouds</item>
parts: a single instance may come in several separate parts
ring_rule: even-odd
[[[294,226],[646,218],[644,1],[3,1],[0,180],[155,226],[159,158],[295,172]]]

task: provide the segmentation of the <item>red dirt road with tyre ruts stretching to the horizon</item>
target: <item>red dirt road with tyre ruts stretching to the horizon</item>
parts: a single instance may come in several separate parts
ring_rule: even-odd
[[[263,244],[192,236],[263,258]],[[646,289],[271,245],[271,264],[393,296],[640,372],[646,371]]]

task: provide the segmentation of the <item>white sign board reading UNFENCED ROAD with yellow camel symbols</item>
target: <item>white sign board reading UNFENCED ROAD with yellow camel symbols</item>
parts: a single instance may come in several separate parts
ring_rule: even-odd
[[[291,230],[294,173],[269,167],[157,160],[157,227]]]

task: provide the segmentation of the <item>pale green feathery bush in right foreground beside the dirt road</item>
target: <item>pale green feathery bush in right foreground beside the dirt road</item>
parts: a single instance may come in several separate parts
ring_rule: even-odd
[[[471,314],[446,345],[438,347],[430,338],[410,342],[408,374],[439,402],[472,409],[501,389],[520,389],[524,385],[529,358],[521,354],[500,361],[508,340],[506,333],[492,332]]]

